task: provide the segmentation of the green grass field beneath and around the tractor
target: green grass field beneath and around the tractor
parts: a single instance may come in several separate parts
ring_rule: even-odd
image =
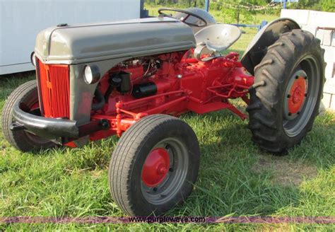
[[[247,30],[232,50],[254,35]],[[14,88],[30,79],[0,76],[0,108]],[[237,102],[237,104],[240,104]],[[240,105],[242,107],[242,105]],[[272,156],[252,143],[247,121],[228,111],[187,114],[200,142],[194,192],[171,216],[335,216],[335,115],[319,117],[288,156]],[[0,216],[126,216],[112,202],[107,166],[117,138],[81,149],[20,153],[0,135]],[[312,224],[12,224],[0,231],[334,231]]]

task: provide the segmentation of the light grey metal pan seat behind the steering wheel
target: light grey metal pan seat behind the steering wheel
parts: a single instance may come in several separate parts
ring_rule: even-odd
[[[212,52],[221,52],[236,42],[241,30],[235,25],[214,24],[199,30],[195,35],[196,46],[206,46]]]

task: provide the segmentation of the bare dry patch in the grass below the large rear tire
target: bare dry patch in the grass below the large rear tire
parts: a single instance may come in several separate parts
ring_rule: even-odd
[[[268,154],[261,155],[253,169],[256,173],[271,172],[273,182],[280,185],[298,186],[303,180],[317,176],[317,168],[314,166]]]

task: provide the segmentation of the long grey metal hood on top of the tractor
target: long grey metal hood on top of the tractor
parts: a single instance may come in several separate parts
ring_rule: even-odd
[[[189,50],[192,28],[172,18],[65,25],[42,30],[35,54],[47,64],[81,64]]]

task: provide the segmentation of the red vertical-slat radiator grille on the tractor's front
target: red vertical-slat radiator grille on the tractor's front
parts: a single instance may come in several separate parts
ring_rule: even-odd
[[[38,60],[38,69],[44,116],[69,118],[69,66],[43,64]]]

